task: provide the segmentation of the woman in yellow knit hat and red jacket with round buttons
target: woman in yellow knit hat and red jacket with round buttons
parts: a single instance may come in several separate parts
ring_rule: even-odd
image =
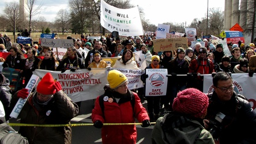
[[[102,143],[136,143],[135,124],[103,126],[103,123],[134,123],[135,118],[142,127],[151,126],[148,113],[137,93],[127,89],[127,77],[118,70],[108,73],[109,88],[97,97],[92,110],[93,126],[101,129]]]

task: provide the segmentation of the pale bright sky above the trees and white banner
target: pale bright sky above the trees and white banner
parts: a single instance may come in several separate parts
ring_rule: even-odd
[[[19,2],[18,0],[1,0],[1,11],[7,2],[14,1]],[[144,9],[145,18],[149,19],[151,24],[186,22],[189,25],[194,18],[206,17],[207,1],[209,1],[209,9],[214,7],[224,11],[224,0],[131,0],[130,2]],[[43,16],[46,21],[54,21],[60,9],[69,9],[68,0],[44,0],[42,3],[42,12],[34,18]]]

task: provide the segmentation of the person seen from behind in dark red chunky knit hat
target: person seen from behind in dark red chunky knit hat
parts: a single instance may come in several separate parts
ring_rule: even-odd
[[[202,125],[208,105],[209,98],[198,89],[179,92],[172,104],[174,111],[157,119],[152,143],[214,144],[212,135]]]

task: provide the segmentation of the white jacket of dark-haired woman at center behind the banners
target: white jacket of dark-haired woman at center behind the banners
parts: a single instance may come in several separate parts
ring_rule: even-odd
[[[121,58],[117,59],[115,61],[115,65],[113,68],[118,68],[118,69],[130,69],[130,70],[138,70],[137,63],[134,61],[134,58],[131,58],[128,60],[125,64],[123,63],[123,60]]]

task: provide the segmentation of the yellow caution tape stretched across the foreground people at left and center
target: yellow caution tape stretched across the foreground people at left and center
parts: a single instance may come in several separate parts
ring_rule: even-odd
[[[27,124],[27,123],[7,123],[9,126],[14,127],[77,127],[77,126],[93,126],[93,123],[77,123],[77,124]],[[115,125],[138,125],[142,123],[103,123],[103,126],[115,126]],[[156,124],[156,122],[152,122],[150,124]]]

